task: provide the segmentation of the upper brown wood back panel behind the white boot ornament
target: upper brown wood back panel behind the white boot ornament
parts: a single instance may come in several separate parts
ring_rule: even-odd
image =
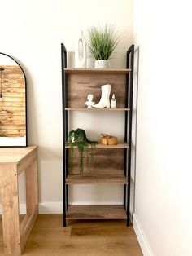
[[[116,95],[117,108],[124,108],[125,82],[125,73],[68,73],[68,108],[85,108],[89,94],[93,94],[94,102],[98,103],[101,86],[105,84],[111,84],[111,95]]]

